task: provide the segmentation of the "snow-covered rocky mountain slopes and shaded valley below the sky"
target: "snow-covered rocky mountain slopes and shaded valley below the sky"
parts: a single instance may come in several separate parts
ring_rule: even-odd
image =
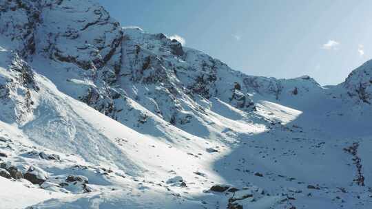
[[[372,65],[248,76],[94,1],[0,0],[0,208],[371,208]]]

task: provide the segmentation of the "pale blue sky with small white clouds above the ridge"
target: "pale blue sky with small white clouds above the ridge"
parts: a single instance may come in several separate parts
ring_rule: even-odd
[[[256,76],[341,83],[372,58],[372,1],[99,0],[121,25],[178,35]]]

